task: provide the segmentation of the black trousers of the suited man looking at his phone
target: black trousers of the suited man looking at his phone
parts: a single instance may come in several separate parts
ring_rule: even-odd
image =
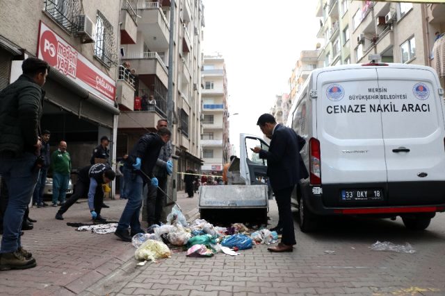
[[[293,218],[291,209],[291,194],[293,187],[287,187],[284,189],[273,190],[275,193],[275,200],[277,200],[279,224],[283,227],[283,234],[281,242],[284,245],[295,245],[295,231],[293,229]]]

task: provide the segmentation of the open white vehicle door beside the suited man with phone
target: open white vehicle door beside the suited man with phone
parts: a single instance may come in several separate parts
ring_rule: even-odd
[[[261,147],[269,150],[269,145],[263,139],[251,134],[240,134],[240,172],[246,185],[264,184],[261,180],[267,178],[267,160],[260,159],[258,153],[251,148]]]

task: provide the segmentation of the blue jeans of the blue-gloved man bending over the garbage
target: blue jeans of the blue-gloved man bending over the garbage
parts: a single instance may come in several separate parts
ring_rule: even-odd
[[[140,175],[124,172],[125,184],[128,186],[128,201],[118,223],[118,230],[124,231],[131,228],[132,232],[140,232],[139,213],[142,207],[142,191],[144,182]]]

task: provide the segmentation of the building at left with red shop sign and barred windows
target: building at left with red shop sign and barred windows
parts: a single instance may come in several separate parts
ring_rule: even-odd
[[[90,163],[104,135],[115,158],[120,12],[120,1],[1,1],[0,89],[22,74],[24,59],[49,63],[41,128],[51,131],[51,149],[67,141],[73,168]]]

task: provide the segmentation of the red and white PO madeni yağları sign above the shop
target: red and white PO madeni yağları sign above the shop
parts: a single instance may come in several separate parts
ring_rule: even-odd
[[[38,58],[77,85],[114,105],[116,82],[40,21]]]

